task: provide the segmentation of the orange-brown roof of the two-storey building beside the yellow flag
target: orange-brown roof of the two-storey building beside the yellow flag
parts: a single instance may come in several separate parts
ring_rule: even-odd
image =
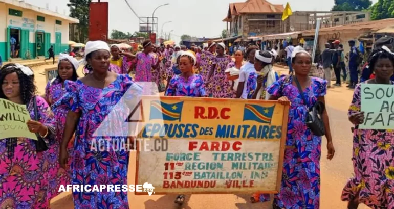
[[[283,13],[283,5],[273,5],[265,0],[248,0],[238,13]]]

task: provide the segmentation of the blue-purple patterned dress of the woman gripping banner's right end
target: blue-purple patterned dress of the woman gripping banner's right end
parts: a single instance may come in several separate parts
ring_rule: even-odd
[[[289,81],[286,81],[289,80]],[[320,201],[321,137],[315,136],[305,123],[309,108],[327,91],[327,81],[311,77],[311,86],[303,91],[307,104],[294,85],[292,77],[279,79],[268,88],[268,93],[288,97],[289,110],[286,149],[284,151],[280,193],[274,196],[279,208],[318,209]],[[260,200],[266,201],[267,195]]]

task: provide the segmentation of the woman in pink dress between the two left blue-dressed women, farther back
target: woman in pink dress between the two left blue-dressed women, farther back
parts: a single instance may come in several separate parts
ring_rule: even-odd
[[[130,69],[134,69],[134,66],[136,68],[136,82],[152,82],[155,81],[152,70],[156,72],[160,60],[155,59],[155,55],[152,53],[154,47],[152,41],[145,40],[142,47],[144,47],[144,50],[136,55],[136,59],[134,59]]]

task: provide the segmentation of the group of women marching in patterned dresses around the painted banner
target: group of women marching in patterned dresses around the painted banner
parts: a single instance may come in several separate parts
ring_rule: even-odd
[[[110,113],[127,117],[127,105],[117,103],[121,98],[127,103],[141,95],[143,87],[135,82],[155,82],[159,86],[167,80],[163,88],[167,96],[278,100],[290,105],[281,189],[274,195],[273,207],[319,208],[322,138],[308,128],[306,116],[317,103],[324,105],[327,82],[309,76],[312,59],[307,51],[293,52],[294,74],[287,76],[279,76],[273,69],[277,56],[274,50],[250,46],[246,62],[243,51],[235,51],[234,60],[225,51],[223,43],[187,50],[181,46],[155,47],[147,40],[143,51],[133,55],[122,53],[117,45],[88,42],[83,60],[85,76],[78,78],[80,62],[60,55],[58,76],[49,81],[43,97],[36,95],[30,68],[3,66],[0,98],[27,106],[32,118],[26,121],[28,129],[39,140],[0,140],[0,207],[49,208],[50,200],[64,184],[127,184],[129,153],[114,145],[128,143],[128,126],[120,120],[111,124],[103,121]],[[369,68],[375,78],[366,83],[394,84],[390,81],[394,73],[391,51],[377,50]],[[128,75],[132,70],[135,79]],[[357,125],[364,120],[360,105],[358,85],[349,109],[349,120],[355,125],[355,177],[345,186],[342,200],[349,201],[348,208],[352,209],[359,203],[394,208],[390,146],[394,137],[391,130],[359,129]],[[321,119],[327,140],[326,158],[331,160],[335,149],[325,109]],[[97,134],[106,126],[116,128],[117,137]],[[106,149],[92,149],[97,141]],[[256,193],[250,200],[269,199],[268,194]],[[127,192],[74,192],[73,200],[75,208],[129,208]],[[177,203],[184,201],[184,195],[176,198]]]

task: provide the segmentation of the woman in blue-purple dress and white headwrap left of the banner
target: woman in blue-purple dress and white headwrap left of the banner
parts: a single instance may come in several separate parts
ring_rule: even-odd
[[[117,103],[122,97],[131,99],[134,90],[140,93],[141,89],[128,75],[108,71],[110,48],[105,42],[89,41],[85,50],[93,72],[76,82],[65,81],[67,93],[54,105],[55,109],[61,108],[58,106],[69,109],[60,146],[60,166],[64,168],[67,164],[67,145],[75,133],[72,184],[124,185],[129,154],[127,147],[114,145],[127,144],[129,129],[121,122],[124,120],[104,119],[127,118],[128,108],[123,102]],[[109,130],[116,135],[108,137],[112,134],[107,128],[115,129]],[[75,191],[73,199],[76,209],[129,208],[127,192],[123,191]]]

